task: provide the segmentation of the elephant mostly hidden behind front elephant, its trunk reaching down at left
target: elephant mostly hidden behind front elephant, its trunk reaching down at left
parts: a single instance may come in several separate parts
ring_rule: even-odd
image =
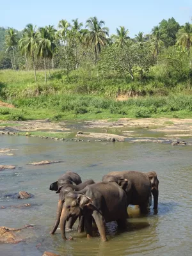
[[[72,182],[70,180],[65,180],[65,182],[67,182],[67,181],[68,181],[68,183],[63,184],[58,189],[58,191],[56,191],[56,193],[59,193],[60,195],[59,195],[59,201],[58,201],[56,220],[54,222],[54,225],[52,227],[50,234],[54,234],[58,228],[58,225],[60,224],[61,211],[62,211],[63,203],[65,202],[65,195],[69,191],[79,191],[90,184],[95,184],[95,182],[92,179],[86,180],[83,183],[80,183],[79,185],[74,185],[74,184],[72,184]],[[74,223],[77,220],[77,217],[72,216],[69,218],[69,220],[67,221],[67,229],[68,230],[70,230],[72,228],[72,226],[74,225]],[[83,229],[84,229],[84,218],[83,218],[83,216],[79,216],[79,225],[78,225],[77,231],[83,232]]]

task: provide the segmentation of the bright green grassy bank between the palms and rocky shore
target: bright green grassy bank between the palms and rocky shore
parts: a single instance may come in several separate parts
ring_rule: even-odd
[[[60,71],[53,72],[51,79],[45,84],[44,73],[37,72],[37,85],[33,82],[33,72],[0,71],[0,99],[16,107],[0,107],[0,119],[191,117],[190,90],[180,92],[178,87],[177,90],[168,90],[162,85],[154,85],[153,91],[147,89],[151,87],[150,83],[143,85],[138,81],[126,84],[125,81],[116,80],[111,81],[110,85],[109,81],[97,81],[94,76],[90,81],[86,78],[83,86],[83,78],[78,77],[78,81],[81,81],[78,83],[74,74],[77,75],[77,72],[66,77]],[[140,90],[136,90],[139,85]],[[141,96],[142,94],[145,96]],[[138,96],[123,101],[116,100],[116,96],[120,95]]]

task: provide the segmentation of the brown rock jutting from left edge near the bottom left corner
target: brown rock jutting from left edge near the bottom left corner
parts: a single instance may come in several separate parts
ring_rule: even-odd
[[[33,228],[33,225],[26,225],[22,228],[8,228],[0,227],[0,243],[19,243],[24,239],[33,236],[33,232],[29,232],[29,229]]]

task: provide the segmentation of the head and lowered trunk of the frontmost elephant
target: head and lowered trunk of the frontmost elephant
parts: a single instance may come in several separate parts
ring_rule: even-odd
[[[91,203],[92,199],[81,193],[70,191],[65,195],[60,222],[61,236],[63,239],[68,240],[65,236],[66,221],[68,221],[70,217],[77,218],[81,216],[83,208]]]

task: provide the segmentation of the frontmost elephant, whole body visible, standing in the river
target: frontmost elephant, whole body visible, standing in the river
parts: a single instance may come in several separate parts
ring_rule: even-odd
[[[95,221],[102,241],[107,241],[104,224],[117,221],[118,227],[125,228],[129,218],[127,206],[127,195],[116,182],[99,182],[81,191],[70,191],[65,195],[61,212],[61,236],[68,240],[65,236],[66,221],[70,216],[83,214],[87,237],[92,236],[92,221]]]

